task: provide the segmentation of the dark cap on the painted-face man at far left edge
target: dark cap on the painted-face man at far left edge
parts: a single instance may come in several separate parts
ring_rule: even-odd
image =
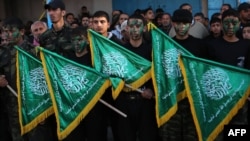
[[[24,29],[23,21],[17,17],[9,17],[3,20],[3,26],[17,27],[18,29]]]

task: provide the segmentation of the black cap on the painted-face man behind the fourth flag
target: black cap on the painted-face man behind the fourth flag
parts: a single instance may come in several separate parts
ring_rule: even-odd
[[[177,9],[173,13],[173,22],[192,23],[192,13],[186,9]]]

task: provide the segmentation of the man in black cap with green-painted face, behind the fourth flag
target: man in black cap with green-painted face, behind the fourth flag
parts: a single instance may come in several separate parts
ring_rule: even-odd
[[[201,39],[189,34],[192,24],[192,13],[189,10],[174,11],[172,22],[176,32],[173,39],[194,56],[203,57],[205,47]],[[178,110],[160,129],[163,138],[168,141],[198,141],[196,127],[190,110],[188,99],[178,102]]]

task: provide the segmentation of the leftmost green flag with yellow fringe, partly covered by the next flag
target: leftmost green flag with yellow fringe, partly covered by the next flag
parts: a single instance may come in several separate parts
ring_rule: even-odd
[[[17,49],[17,92],[21,134],[25,134],[54,113],[42,63]]]

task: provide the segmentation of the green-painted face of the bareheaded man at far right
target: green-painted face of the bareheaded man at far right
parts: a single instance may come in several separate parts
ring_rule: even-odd
[[[240,27],[240,21],[237,17],[228,16],[222,21],[224,35],[234,36]]]

